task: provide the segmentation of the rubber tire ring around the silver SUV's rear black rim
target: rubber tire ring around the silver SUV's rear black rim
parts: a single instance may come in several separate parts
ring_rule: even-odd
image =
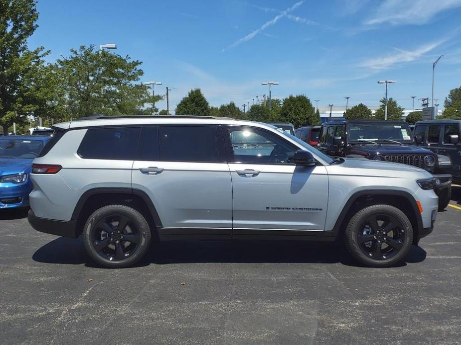
[[[115,214],[120,214],[128,217],[130,221],[136,224],[138,231],[141,233],[141,242],[138,245],[139,247],[136,250],[136,252],[130,258],[120,261],[111,261],[101,257],[93,248],[91,236],[92,232],[94,231],[94,225],[101,218]],[[91,214],[91,216],[86,221],[85,226],[83,228],[83,243],[88,255],[96,263],[111,268],[128,267],[142,259],[149,250],[151,244],[151,229],[144,216],[134,208],[125,205],[108,205],[101,207],[95,212],[93,212],[93,214]]]

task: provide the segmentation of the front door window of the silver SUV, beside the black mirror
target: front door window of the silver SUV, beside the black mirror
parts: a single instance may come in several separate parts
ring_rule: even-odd
[[[277,135],[252,127],[230,127],[231,162],[247,164],[294,164],[296,147]]]

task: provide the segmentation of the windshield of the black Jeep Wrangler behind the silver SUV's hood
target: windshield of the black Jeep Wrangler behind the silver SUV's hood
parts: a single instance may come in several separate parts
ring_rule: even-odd
[[[406,124],[394,123],[359,123],[348,124],[349,141],[413,141],[410,127]]]

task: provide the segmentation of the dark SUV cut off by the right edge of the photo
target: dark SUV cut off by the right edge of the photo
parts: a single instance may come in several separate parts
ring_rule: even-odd
[[[461,184],[461,120],[429,120],[415,124],[416,143],[438,156],[449,157],[440,164],[440,170],[453,175],[453,182]]]

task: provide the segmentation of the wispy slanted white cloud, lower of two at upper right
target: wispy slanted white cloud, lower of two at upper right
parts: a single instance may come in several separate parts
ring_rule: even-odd
[[[385,57],[368,59],[360,64],[360,67],[367,67],[372,70],[385,70],[396,64],[415,61],[434,48],[440,46],[445,40],[433,42],[420,46],[414,50],[396,49],[397,53]]]

